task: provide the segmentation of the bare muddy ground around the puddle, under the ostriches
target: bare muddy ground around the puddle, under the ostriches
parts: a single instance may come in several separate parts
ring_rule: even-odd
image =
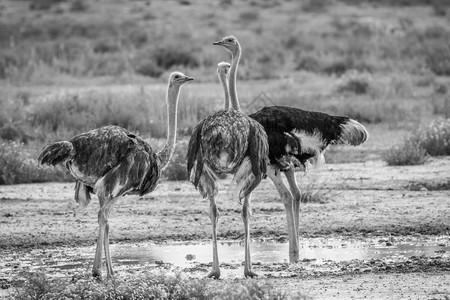
[[[438,248],[427,255],[401,258],[320,263],[305,259],[295,265],[254,261],[255,271],[265,277],[261,280],[318,299],[450,297],[450,157],[433,158],[425,165],[410,167],[389,167],[378,160],[328,164],[307,176],[299,173],[298,180],[315,201],[302,205],[303,243],[309,239],[339,239],[395,247],[406,241],[434,243]],[[227,197],[229,182],[224,180],[218,197],[222,241],[240,240],[243,235],[240,205]],[[48,266],[39,253],[48,257],[48,253],[72,253],[74,249],[76,253],[82,248],[93,259],[98,203],[94,198],[87,208],[79,209],[73,200],[72,183],[0,186],[0,203],[0,280],[4,288],[0,296],[7,297],[11,290],[8,287],[14,285],[21,270],[30,265],[35,269]],[[284,207],[270,181],[265,180],[257,188],[252,208],[255,243],[286,243]],[[209,203],[191,184],[161,182],[150,195],[127,196],[117,203],[110,218],[112,247],[209,242],[208,209]],[[50,257],[55,260],[59,256]],[[59,272],[60,276],[86,272],[89,263],[86,260],[73,270],[51,272]],[[132,272],[142,266],[119,263],[115,267],[119,272]],[[196,277],[206,275],[209,268],[199,262],[184,271]],[[224,263],[223,268],[238,269],[235,273],[240,272],[242,277],[240,261]],[[239,277],[230,275],[223,279],[236,276]]]

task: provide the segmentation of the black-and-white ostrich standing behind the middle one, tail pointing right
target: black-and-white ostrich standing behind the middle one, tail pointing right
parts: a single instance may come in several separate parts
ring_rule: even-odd
[[[224,94],[227,85],[224,76],[219,76]],[[230,77],[231,80],[235,78]],[[225,108],[228,103],[225,98]],[[299,210],[300,189],[294,169],[306,166],[310,161],[323,160],[323,152],[329,144],[364,143],[369,134],[363,125],[343,116],[331,116],[321,112],[305,111],[293,107],[269,106],[249,115],[263,125],[268,136],[270,164],[267,176],[274,183],[285,206],[289,235],[289,260],[299,260]],[[289,189],[283,183],[281,173],[286,176]]]

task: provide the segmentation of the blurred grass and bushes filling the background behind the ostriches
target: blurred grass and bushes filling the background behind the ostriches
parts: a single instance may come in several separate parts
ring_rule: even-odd
[[[35,166],[41,147],[107,124],[158,149],[176,69],[196,79],[180,98],[179,134],[189,136],[222,105],[215,69],[229,56],[212,42],[229,34],[243,47],[246,112],[282,104],[368,126],[370,143],[354,155],[333,148],[331,162],[381,158],[408,131],[450,117],[446,0],[4,0],[0,184],[67,180]],[[167,178],[184,178],[185,145]],[[11,175],[19,163],[39,172]]]

